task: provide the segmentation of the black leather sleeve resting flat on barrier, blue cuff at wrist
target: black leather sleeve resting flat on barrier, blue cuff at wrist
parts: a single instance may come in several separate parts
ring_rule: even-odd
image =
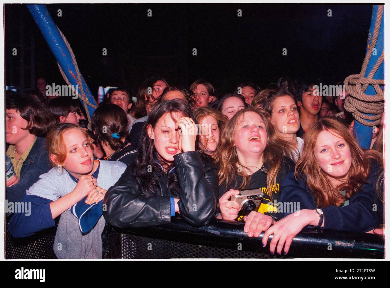
[[[115,227],[147,227],[170,223],[170,197],[144,197],[130,164],[103,199],[103,216]]]

